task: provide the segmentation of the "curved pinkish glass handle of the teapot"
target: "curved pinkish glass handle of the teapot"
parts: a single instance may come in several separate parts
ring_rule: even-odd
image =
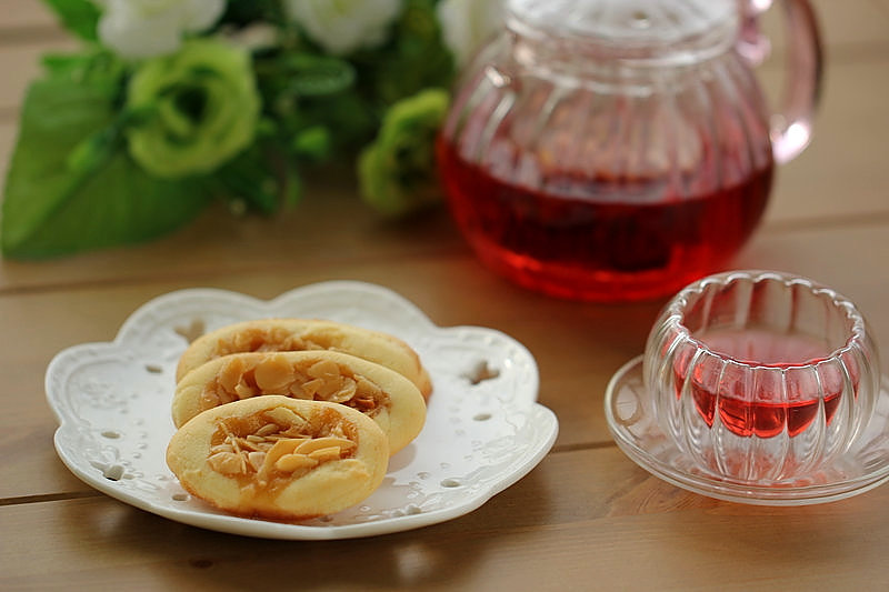
[[[812,136],[812,119],[821,96],[823,53],[818,21],[808,0],[782,0],[788,33],[787,81],[781,110],[771,119],[775,160],[785,163],[802,152]],[[751,63],[768,56],[768,39],[759,32],[756,18],[772,0],[743,0],[739,52]]]

